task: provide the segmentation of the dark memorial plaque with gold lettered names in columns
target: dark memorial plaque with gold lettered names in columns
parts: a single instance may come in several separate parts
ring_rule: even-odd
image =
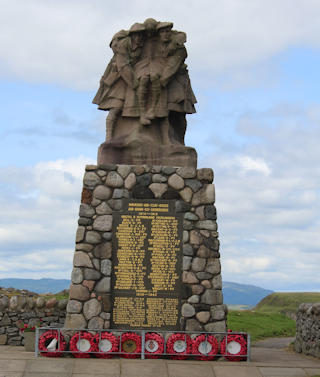
[[[178,330],[182,219],[174,202],[128,200],[113,227],[112,327]]]

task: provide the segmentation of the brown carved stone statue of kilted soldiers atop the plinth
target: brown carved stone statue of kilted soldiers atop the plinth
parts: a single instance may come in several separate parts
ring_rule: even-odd
[[[99,164],[193,166],[184,145],[186,114],[195,112],[185,59],[186,34],[152,18],[116,33],[114,53],[93,99],[108,110]]]

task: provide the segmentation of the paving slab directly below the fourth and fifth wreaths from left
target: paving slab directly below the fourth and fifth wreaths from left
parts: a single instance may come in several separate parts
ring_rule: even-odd
[[[167,377],[166,360],[121,360],[121,377]]]

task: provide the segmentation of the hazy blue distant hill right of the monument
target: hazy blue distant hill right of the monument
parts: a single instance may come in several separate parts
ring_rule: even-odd
[[[224,281],[222,287],[223,302],[227,305],[247,305],[252,307],[273,292],[255,285],[232,283],[230,281]]]

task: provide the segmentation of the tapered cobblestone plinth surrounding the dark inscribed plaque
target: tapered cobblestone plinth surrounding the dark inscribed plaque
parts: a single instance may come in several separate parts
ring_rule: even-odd
[[[211,169],[86,166],[65,327],[110,328],[112,214],[128,198],[172,199],[184,217],[180,323],[185,330],[225,331],[212,181]]]

